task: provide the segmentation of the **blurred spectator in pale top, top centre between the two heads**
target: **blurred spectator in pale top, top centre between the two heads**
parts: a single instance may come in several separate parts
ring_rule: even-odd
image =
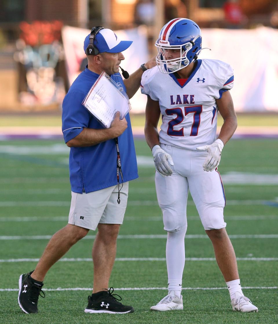
[[[134,22],[136,25],[153,25],[156,7],[153,0],[137,0],[134,8]]]

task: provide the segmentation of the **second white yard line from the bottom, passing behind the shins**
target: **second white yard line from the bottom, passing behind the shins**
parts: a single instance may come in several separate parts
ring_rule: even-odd
[[[40,259],[0,259],[0,263],[38,262]],[[91,258],[63,258],[64,262],[92,262]],[[115,261],[166,261],[166,258],[116,258]],[[215,261],[215,258],[185,258],[185,261]],[[237,261],[278,261],[278,258],[237,258]]]

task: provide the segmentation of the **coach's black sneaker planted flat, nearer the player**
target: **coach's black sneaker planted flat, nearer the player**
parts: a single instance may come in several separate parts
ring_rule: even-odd
[[[125,306],[119,302],[122,300],[119,295],[112,295],[114,288],[111,287],[109,290],[105,290],[107,291],[99,291],[88,296],[88,306],[84,310],[85,313],[125,314],[134,312],[132,306]],[[115,296],[120,297],[120,299],[115,298]]]

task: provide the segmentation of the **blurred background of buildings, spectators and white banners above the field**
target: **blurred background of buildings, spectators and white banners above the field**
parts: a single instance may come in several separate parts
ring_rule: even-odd
[[[172,18],[203,30],[200,58],[235,69],[237,112],[276,112],[278,1],[276,0],[2,0],[0,3],[0,114],[56,113],[84,69],[83,41],[93,26],[113,29],[133,46],[122,66],[133,72],[156,54],[154,43]],[[132,113],[143,113],[137,93]]]

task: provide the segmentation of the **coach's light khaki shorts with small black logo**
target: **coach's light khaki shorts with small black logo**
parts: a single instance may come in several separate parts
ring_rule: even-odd
[[[121,184],[120,184],[121,187]],[[69,224],[95,230],[98,224],[122,224],[128,197],[128,182],[89,193],[71,192]]]

